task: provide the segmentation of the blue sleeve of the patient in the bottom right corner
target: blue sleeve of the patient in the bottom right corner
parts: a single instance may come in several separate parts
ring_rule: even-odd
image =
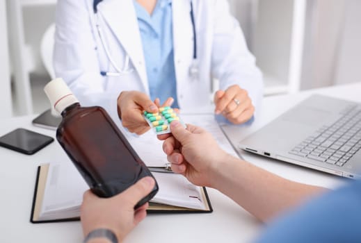
[[[270,224],[259,243],[361,242],[361,181],[328,192]]]

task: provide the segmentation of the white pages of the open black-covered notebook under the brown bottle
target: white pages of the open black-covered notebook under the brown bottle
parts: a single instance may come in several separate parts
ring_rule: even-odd
[[[159,192],[151,202],[195,210],[205,210],[201,187],[190,183],[184,176],[173,173],[152,173]],[[89,187],[70,160],[49,166],[45,193],[40,210],[41,220],[78,217],[83,193]]]

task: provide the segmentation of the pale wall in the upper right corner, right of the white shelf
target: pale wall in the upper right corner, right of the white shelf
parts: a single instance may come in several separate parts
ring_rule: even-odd
[[[301,88],[361,81],[361,1],[308,0]]]

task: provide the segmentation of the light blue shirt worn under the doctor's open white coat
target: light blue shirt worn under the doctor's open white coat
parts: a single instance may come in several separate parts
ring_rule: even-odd
[[[173,13],[171,0],[158,0],[150,15],[143,6],[134,1],[139,30],[143,44],[150,98],[159,98],[161,103],[173,97],[177,102],[173,51]]]

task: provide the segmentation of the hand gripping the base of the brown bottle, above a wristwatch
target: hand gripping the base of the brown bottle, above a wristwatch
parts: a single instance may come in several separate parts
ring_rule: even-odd
[[[99,198],[90,190],[86,191],[81,204],[81,226],[84,236],[97,228],[106,228],[115,233],[118,242],[122,242],[125,236],[147,215],[145,210],[148,203],[136,210],[134,206],[147,196],[153,187],[154,179],[147,176],[124,192],[108,199]]]

